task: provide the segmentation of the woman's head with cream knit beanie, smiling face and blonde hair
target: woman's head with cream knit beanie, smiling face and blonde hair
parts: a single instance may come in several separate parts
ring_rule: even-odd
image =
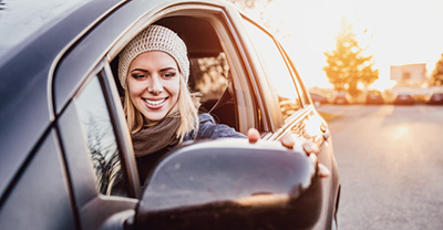
[[[189,79],[186,55],[183,40],[161,25],[148,27],[122,51],[119,79],[125,88],[124,109],[132,133],[143,126],[158,125],[165,117],[179,119],[169,139],[178,137],[182,142],[186,134],[198,128],[198,104],[193,102],[186,86]]]

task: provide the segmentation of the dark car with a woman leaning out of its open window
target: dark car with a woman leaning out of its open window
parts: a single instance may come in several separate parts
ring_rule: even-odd
[[[241,10],[217,0],[2,8],[0,229],[337,229],[328,124],[282,45]],[[243,134],[255,127],[258,143],[183,143],[140,181],[116,66],[151,24],[185,41],[202,109]],[[288,134],[293,149],[278,142]]]

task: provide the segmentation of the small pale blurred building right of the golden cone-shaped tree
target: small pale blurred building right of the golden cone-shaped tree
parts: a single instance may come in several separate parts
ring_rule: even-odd
[[[391,80],[401,85],[422,84],[426,81],[426,64],[391,65]]]

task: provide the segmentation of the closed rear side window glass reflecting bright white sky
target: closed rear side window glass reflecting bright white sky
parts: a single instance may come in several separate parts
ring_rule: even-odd
[[[255,24],[248,21],[245,24],[267,74],[267,83],[276,91],[286,119],[301,107],[292,75],[274,39]]]

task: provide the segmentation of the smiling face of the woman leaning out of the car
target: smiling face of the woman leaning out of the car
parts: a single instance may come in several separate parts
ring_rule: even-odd
[[[135,108],[147,121],[159,121],[175,106],[179,72],[167,53],[150,51],[135,58],[128,69],[127,87]]]

